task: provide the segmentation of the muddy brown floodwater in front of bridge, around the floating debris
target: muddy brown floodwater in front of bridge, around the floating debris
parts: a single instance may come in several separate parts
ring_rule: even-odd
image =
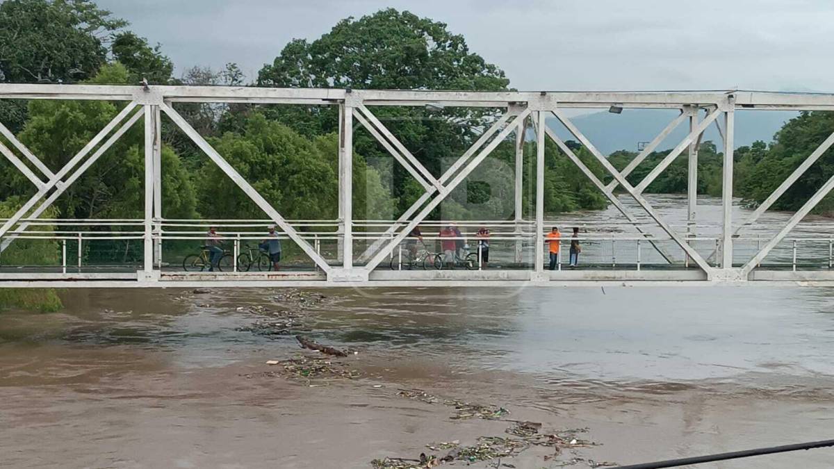
[[[0,312],[0,465],[370,467],[505,436],[507,422],[452,420],[399,388],[587,427],[600,444],[501,461],[516,467],[834,436],[832,290],[322,290],[303,307],[286,291],[68,290],[58,313]],[[361,376],[264,374],[299,348],[240,330],[262,319],[252,305],[303,310],[304,333],[355,351],[344,361]],[[834,450],[697,467],[751,466],[831,467]]]

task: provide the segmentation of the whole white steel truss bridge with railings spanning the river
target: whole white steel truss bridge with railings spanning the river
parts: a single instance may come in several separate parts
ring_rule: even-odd
[[[33,184],[34,194],[8,218],[0,219],[0,287],[199,287],[199,286],[523,286],[523,285],[834,285],[834,233],[817,222],[816,235],[792,235],[797,224],[834,188],[834,174],[795,214],[757,230],[761,216],[799,179],[831,144],[834,129],[815,151],[755,210],[734,219],[732,175],[735,116],[739,109],[834,111],[834,95],[816,93],[763,93],[739,90],[713,92],[458,92],[350,90],[313,88],[232,88],[196,86],[106,86],[0,84],[0,99],[70,99],[118,102],[121,111],[63,167],[49,169],[38,155],[0,124],[0,153]],[[177,103],[250,103],[271,105],[333,106],[339,108],[339,216],[337,219],[285,219],[274,204],[259,194],[214,147],[175,109]],[[500,117],[484,126],[480,138],[455,156],[437,176],[414,157],[397,135],[378,119],[384,106],[435,108],[492,108]],[[593,142],[571,122],[572,108],[666,108],[679,113],[647,142],[625,169],[618,171]],[[234,181],[264,219],[165,219],[162,208],[162,125],[166,116],[188,139]],[[51,219],[47,209],[119,138],[139,120],[144,130],[144,216],[142,219]],[[605,171],[604,182],[583,163],[575,146],[567,144],[545,122],[557,119],[585,147]],[[636,169],[677,127],[688,125],[686,137],[674,146],[638,184],[626,176]],[[711,234],[699,223],[697,156],[701,137],[711,125],[721,134],[723,171],[721,219]],[[409,209],[390,220],[355,219],[353,213],[353,134],[363,128],[422,186],[424,193]],[[535,139],[535,216],[525,219],[522,209],[522,173],[525,142]],[[548,265],[545,219],[545,141],[550,139],[582,174],[604,194],[622,215],[625,229],[618,234],[585,229],[580,240],[597,258],[578,269],[565,264],[570,233],[562,236],[555,268]],[[445,224],[429,219],[450,193],[467,179],[502,142],[515,143],[515,215],[501,220],[456,220],[462,234],[472,240],[475,229],[490,226],[495,258],[501,246],[503,259],[487,266],[480,248],[469,263],[458,268],[435,268],[434,252],[425,262],[410,262],[404,254],[409,232],[420,226],[432,232]],[[529,144],[529,142],[527,142]],[[686,224],[675,224],[651,204],[646,188],[677,158],[688,158]],[[615,193],[615,190],[617,192]],[[448,220],[447,220],[448,221]],[[251,256],[251,243],[263,239],[266,225],[277,225],[284,242],[298,246],[305,262],[284,265],[278,271],[259,265]],[[85,227],[98,227],[91,231]],[[217,226],[232,244],[222,269],[188,269],[181,259],[163,259],[163,246],[204,240],[205,229]],[[50,229],[41,229],[49,227]],[[112,227],[113,229],[108,229]],[[587,227],[585,227],[587,228]],[[434,231],[436,232],[436,231]],[[589,234],[590,233],[590,234]],[[3,252],[15,240],[52,240],[60,249],[60,262],[48,266],[9,265]],[[101,240],[133,240],[142,246],[134,265],[87,265],[84,246]],[[434,244],[436,236],[425,241]],[[427,250],[431,250],[427,248]],[[476,251],[476,252],[475,252]],[[599,255],[605,251],[610,255]],[[76,254],[77,253],[77,254]],[[247,254],[249,253],[249,254]],[[808,253],[811,253],[810,255]],[[250,255],[247,260],[246,255]],[[566,257],[566,254],[565,254]],[[259,265],[262,269],[254,268]]]

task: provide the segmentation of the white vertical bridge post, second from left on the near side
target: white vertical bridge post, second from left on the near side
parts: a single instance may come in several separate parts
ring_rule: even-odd
[[[354,266],[353,243],[353,126],[354,108],[339,105],[339,231],[342,239],[342,267]]]

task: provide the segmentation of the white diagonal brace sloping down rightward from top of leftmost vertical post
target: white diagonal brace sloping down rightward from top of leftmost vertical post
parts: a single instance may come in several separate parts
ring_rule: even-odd
[[[194,144],[196,144],[203,152],[208,155],[208,158],[214,161],[214,164],[217,164],[218,167],[227,175],[229,176],[234,184],[237,184],[240,189],[244,191],[246,195],[249,196],[249,199],[259,206],[260,209],[264,210],[264,213],[269,215],[269,218],[272,219],[275,224],[278,224],[281,229],[284,230],[289,236],[290,240],[293,240],[301,250],[304,250],[304,254],[308,255],[310,259],[312,259],[316,265],[319,265],[321,270],[324,270],[325,273],[329,274],[332,268],[327,263],[327,260],[324,260],[324,257],[319,255],[313,248],[313,246],[309,245],[309,243],[302,239],[299,233],[293,228],[293,226],[278,213],[278,210],[274,209],[274,207],[269,204],[269,202],[264,199],[264,197],[259,194],[259,192],[252,187],[252,184],[244,179],[236,169],[229,164],[218,152],[214,149],[208,142],[203,139],[203,136],[200,135],[192,126],[188,124],[188,122],[183,119],[183,116],[179,115],[177,111],[171,108],[168,103],[162,103],[159,106],[164,113],[168,114],[168,117],[173,120],[174,124],[183,130],[183,132],[188,135],[188,138],[191,139]]]

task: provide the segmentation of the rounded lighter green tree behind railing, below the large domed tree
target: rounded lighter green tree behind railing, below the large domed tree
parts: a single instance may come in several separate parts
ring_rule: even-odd
[[[212,144],[244,179],[287,219],[333,219],[337,215],[336,135],[306,139],[254,113],[244,133],[227,132]],[[264,218],[264,213],[216,164],[199,173],[199,209],[211,218]],[[390,200],[379,174],[354,154],[354,214],[376,215]]]

